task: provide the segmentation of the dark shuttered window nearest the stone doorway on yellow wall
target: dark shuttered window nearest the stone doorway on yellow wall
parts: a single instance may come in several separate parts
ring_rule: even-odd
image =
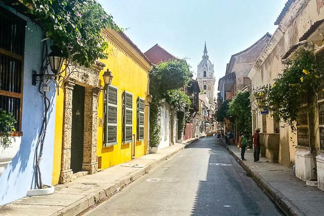
[[[104,143],[103,146],[117,144],[117,89],[108,86],[104,91]]]

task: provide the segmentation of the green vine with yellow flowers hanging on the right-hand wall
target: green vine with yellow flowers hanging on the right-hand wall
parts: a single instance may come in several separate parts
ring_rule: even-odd
[[[299,51],[294,60],[284,60],[282,64],[285,69],[273,84],[260,87],[254,96],[259,109],[271,110],[276,120],[282,120],[295,131],[301,105],[307,104],[308,112],[311,112],[316,104],[321,75],[317,67],[322,64],[315,61],[313,52],[306,50]]]

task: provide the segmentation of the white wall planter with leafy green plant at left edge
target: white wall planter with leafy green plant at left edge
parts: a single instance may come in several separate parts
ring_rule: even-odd
[[[15,133],[16,120],[12,113],[0,109],[0,176],[17,154],[21,136]]]

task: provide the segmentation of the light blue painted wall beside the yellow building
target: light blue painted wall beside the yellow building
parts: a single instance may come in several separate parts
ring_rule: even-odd
[[[4,6],[0,2],[0,7]],[[18,13],[16,13],[18,14]],[[19,15],[19,14],[18,14]],[[19,15],[23,17],[22,15]],[[38,88],[31,84],[32,70],[41,68],[43,32],[39,26],[27,20],[24,57],[23,80],[23,111],[22,111],[22,143],[20,149],[0,176],[0,205],[12,202],[26,196],[27,190],[34,186],[34,150],[42,125],[44,103]],[[41,170],[44,184],[52,183],[53,146],[55,130],[55,87],[50,84],[51,91],[48,97],[51,99],[51,109],[48,115],[48,128],[44,144]]]

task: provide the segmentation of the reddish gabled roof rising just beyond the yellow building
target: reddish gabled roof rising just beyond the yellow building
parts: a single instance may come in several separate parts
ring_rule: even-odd
[[[165,49],[161,48],[158,44],[154,45],[144,55],[152,62],[152,64],[157,65],[160,62],[168,60],[178,60],[177,57],[170,54]]]

